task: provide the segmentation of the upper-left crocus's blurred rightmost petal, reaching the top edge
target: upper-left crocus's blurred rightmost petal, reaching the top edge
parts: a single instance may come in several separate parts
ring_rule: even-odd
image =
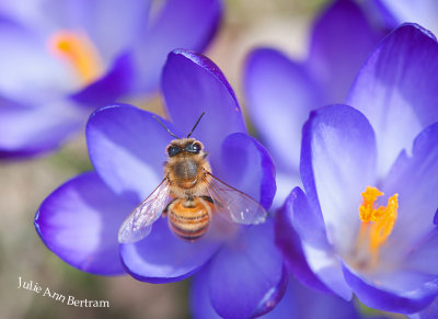
[[[221,0],[165,1],[135,48],[139,67],[137,89],[157,89],[165,57],[172,49],[203,52],[216,33],[221,14]]]

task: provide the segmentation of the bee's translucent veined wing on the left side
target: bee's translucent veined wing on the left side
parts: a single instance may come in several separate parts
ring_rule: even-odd
[[[165,178],[122,224],[118,230],[118,242],[136,242],[148,236],[152,224],[160,217],[165,204],[169,202],[169,180]]]

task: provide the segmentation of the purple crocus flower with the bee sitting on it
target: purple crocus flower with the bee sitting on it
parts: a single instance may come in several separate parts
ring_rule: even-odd
[[[274,166],[262,145],[246,135],[235,95],[219,68],[201,55],[174,50],[163,69],[162,90],[173,119],[162,119],[165,126],[186,135],[206,112],[193,137],[209,153],[212,173],[267,209],[275,193]],[[207,231],[187,242],[159,218],[143,240],[117,242],[123,220],[163,179],[165,148],[173,138],[152,116],[112,105],[90,117],[87,140],[95,171],[73,178],[44,201],[35,216],[41,238],[64,261],[93,274],[126,271],[139,281],[169,283],[201,269],[221,316],[267,311],[287,281],[270,219],[247,231],[242,227],[219,238]]]

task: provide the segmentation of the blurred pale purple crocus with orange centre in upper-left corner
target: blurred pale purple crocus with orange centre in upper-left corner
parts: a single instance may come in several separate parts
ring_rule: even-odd
[[[166,54],[203,50],[220,0],[3,1],[0,156],[51,150],[105,104],[158,88]]]

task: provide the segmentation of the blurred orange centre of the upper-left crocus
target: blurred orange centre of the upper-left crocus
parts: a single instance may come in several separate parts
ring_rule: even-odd
[[[103,72],[97,49],[84,33],[59,31],[49,38],[49,47],[72,66],[84,84],[94,81]]]

